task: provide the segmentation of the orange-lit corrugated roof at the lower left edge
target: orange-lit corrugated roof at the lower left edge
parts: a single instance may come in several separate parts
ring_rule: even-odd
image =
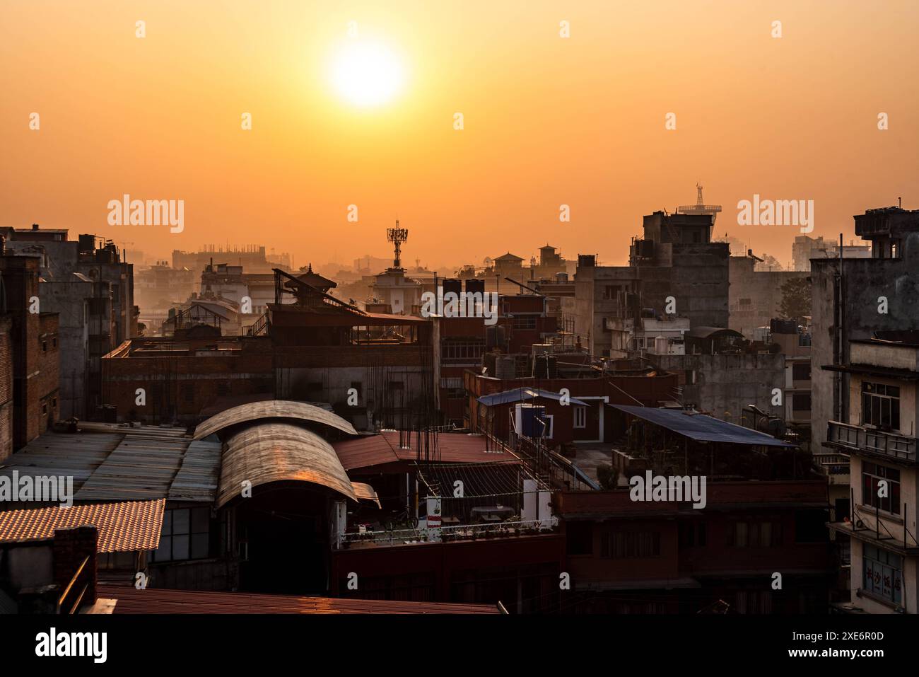
[[[165,504],[158,499],[0,512],[0,541],[50,538],[55,529],[92,525],[99,533],[100,553],[155,550]]]

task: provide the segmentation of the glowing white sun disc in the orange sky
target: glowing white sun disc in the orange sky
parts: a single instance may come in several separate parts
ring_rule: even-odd
[[[362,108],[395,98],[405,85],[405,69],[380,42],[347,42],[332,60],[330,78],[338,94]]]

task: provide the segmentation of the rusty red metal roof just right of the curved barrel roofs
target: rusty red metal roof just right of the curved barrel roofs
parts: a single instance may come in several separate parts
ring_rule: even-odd
[[[403,442],[408,448],[399,446],[399,433],[392,430],[360,437],[356,440],[335,442],[333,448],[346,470],[415,461],[418,459],[418,453],[415,450],[417,444],[415,435],[406,433],[405,438]],[[431,460],[439,463],[516,461],[516,458],[509,453],[487,451],[484,436],[467,435],[460,432],[438,434],[437,451],[437,456]]]

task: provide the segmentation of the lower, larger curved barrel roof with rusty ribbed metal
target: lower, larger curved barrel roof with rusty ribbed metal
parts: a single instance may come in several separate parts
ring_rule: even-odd
[[[311,430],[290,423],[259,423],[227,441],[217,507],[241,496],[246,480],[254,488],[270,482],[310,482],[357,502],[335,449]]]

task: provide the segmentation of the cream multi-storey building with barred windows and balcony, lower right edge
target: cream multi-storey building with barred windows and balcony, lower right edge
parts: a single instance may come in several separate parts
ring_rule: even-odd
[[[919,611],[919,331],[878,331],[850,340],[843,363],[822,365],[845,376],[847,408],[831,420],[825,446],[849,458],[849,496],[834,501],[831,528],[851,542],[846,612]]]

